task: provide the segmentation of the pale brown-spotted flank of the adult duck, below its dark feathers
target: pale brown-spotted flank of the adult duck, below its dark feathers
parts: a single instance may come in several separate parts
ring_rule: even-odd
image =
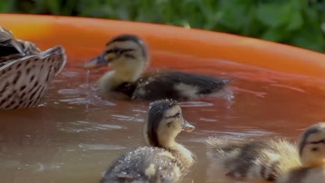
[[[0,110],[38,105],[65,62],[65,50],[55,46],[39,55],[24,56],[1,66]]]

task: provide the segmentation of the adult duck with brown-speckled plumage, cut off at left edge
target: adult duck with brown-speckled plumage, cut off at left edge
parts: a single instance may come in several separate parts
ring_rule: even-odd
[[[0,110],[39,105],[65,63],[62,46],[41,52],[32,42],[17,40],[0,27]]]

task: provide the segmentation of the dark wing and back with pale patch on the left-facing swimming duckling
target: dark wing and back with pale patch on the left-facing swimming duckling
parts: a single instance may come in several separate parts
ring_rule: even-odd
[[[162,98],[190,100],[218,92],[231,79],[205,76],[181,71],[154,71],[146,73],[133,94],[133,99],[155,101]]]

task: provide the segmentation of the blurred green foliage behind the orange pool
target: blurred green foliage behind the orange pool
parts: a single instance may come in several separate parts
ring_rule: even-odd
[[[187,26],[325,53],[325,0],[1,0],[0,12]]]

